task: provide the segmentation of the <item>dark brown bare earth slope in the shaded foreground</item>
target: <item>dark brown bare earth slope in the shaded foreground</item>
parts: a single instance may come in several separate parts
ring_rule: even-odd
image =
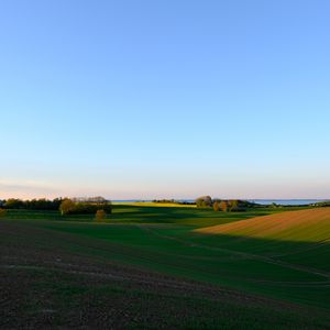
[[[82,248],[84,241],[56,235],[1,221],[1,329],[246,329],[244,324],[255,319],[260,319],[255,329],[273,329],[283,311],[317,317],[314,310],[293,304],[68,252],[56,240]],[[97,251],[101,244],[89,248]],[[241,315],[246,306],[251,317]],[[261,312],[265,307],[268,315]],[[205,326],[212,318],[213,327]],[[222,327],[221,319],[228,318],[233,318],[232,327]],[[295,326],[288,321],[282,329]]]

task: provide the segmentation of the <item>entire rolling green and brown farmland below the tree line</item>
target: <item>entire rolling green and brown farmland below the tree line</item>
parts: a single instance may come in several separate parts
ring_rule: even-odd
[[[0,220],[0,328],[329,329],[330,208]]]

